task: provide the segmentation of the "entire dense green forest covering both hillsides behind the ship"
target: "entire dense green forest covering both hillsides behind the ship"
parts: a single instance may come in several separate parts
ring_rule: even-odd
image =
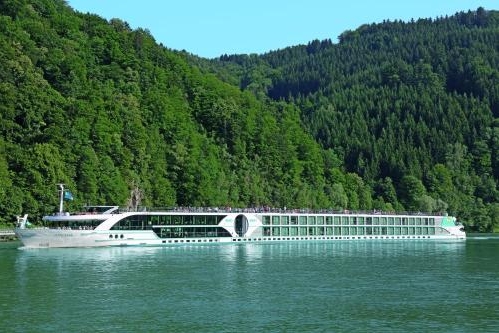
[[[0,223],[123,206],[430,211],[499,226],[499,13],[203,59],[63,0],[0,2]]]

